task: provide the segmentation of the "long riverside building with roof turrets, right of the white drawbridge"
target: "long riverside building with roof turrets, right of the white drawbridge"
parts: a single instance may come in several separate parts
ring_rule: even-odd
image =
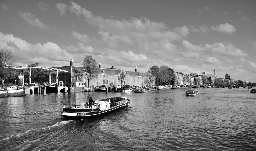
[[[99,68],[96,71],[96,78],[91,79],[89,82],[90,88],[96,88],[102,85],[115,86],[115,85],[131,85],[137,87],[155,85],[156,78],[150,73],[138,72],[137,67],[135,71],[124,71],[114,68],[102,68],[101,62],[98,64]],[[74,61],[70,60],[70,66],[54,67],[68,71],[68,73],[59,72],[59,81],[63,81],[63,84],[68,87],[87,87],[87,78],[83,71],[83,67],[74,66]],[[123,72],[125,78],[123,83],[120,83],[118,76]]]

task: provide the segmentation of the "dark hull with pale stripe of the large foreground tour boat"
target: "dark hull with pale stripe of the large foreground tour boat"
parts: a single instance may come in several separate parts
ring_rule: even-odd
[[[63,116],[66,119],[94,119],[103,115],[106,115],[108,113],[121,110],[123,108],[127,108],[129,106],[130,102],[120,104],[118,106],[109,108],[108,110],[105,111],[97,111],[97,112],[86,112],[86,113],[78,113],[78,112],[61,112],[61,116]]]

